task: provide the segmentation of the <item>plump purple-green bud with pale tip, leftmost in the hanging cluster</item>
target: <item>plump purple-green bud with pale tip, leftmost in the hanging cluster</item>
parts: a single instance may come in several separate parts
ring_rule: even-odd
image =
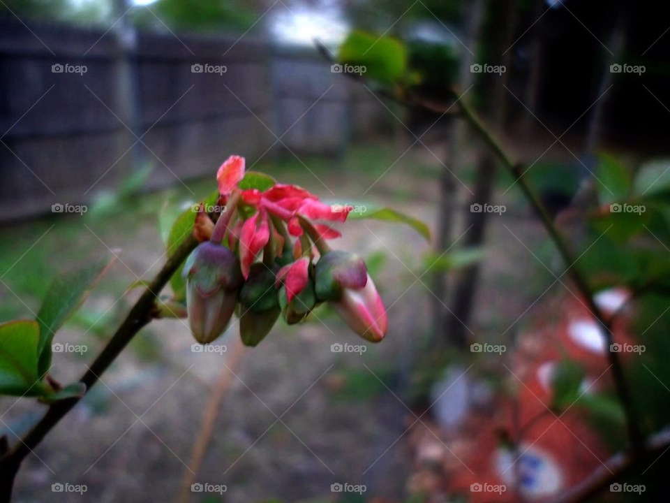
[[[227,247],[206,241],[188,256],[182,277],[191,332],[208,344],[223,333],[237,304],[243,282],[239,260]]]

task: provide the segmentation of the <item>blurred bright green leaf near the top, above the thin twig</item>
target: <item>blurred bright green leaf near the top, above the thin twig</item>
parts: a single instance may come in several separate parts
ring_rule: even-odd
[[[352,31],[338,48],[337,61],[341,64],[365,66],[366,78],[386,85],[401,80],[407,71],[407,48],[397,38]]]

